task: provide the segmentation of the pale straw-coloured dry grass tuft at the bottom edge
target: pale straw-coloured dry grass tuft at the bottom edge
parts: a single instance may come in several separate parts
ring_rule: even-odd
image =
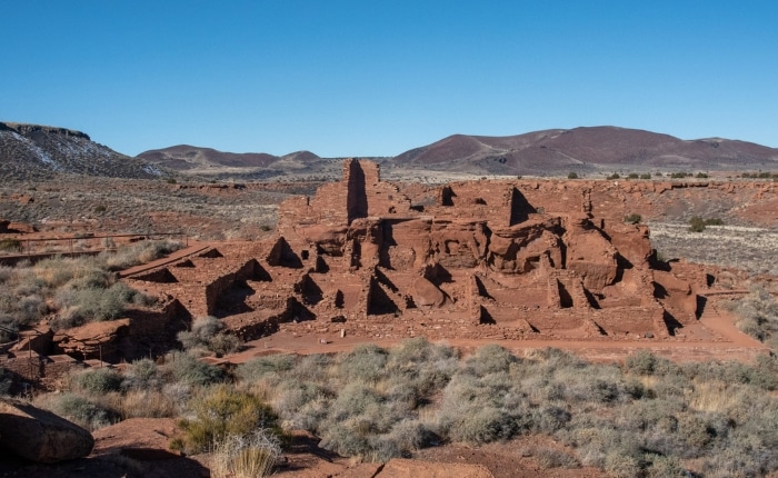
[[[228,435],[211,450],[213,478],[261,478],[272,475],[281,456],[281,444],[271,432],[259,429],[247,436]]]

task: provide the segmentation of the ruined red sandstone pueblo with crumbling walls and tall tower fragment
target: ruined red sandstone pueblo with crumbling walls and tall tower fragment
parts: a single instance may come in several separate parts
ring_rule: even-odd
[[[279,209],[267,242],[219,246],[130,277],[179,316],[245,340],[323,336],[662,338],[696,320],[701,270],[652,268],[625,191],[591,182],[473,181],[406,196],[379,166]],[[180,307],[179,307],[180,306]],[[170,306],[169,306],[170,307]]]

